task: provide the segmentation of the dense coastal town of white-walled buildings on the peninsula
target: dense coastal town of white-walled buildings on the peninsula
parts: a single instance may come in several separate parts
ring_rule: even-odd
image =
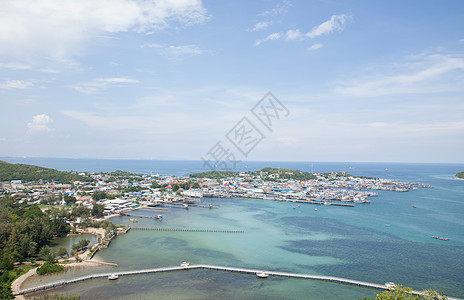
[[[79,175],[89,180],[68,184],[12,180],[0,183],[0,193],[15,196],[20,203],[28,204],[64,207],[73,204],[92,208],[98,203],[104,205],[104,215],[111,216],[141,206],[181,206],[188,209],[192,205],[201,205],[203,197],[253,198],[352,207],[357,203],[370,203],[372,197],[378,196],[378,190],[407,192],[430,187],[392,179],[352,176],[346,172],[312,174],[287,169],[266,169],[268,170],[231,172],[221,174],[230,175],[221,178],[215,171],[189,177],[142,175],[122,171],[80,173]],[[306,177],[309,175],[310,179],[295,179],[299,177],[296,176],[298,173]]]

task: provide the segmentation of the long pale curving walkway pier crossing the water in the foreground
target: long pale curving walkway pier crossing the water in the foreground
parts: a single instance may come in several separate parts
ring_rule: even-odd
[[[355,285],[359,287],[366,287],[366,288],[373,288],[378,290],[388,290],[389,287],[383,284],[377,283],[370,283],[365,281],[358,281],[340,277],[333,277],[333,276],[322,276],[322,275],[308,275],[308,274],[296,274],[296,273],[286,273],[286,272],[278,272],[278,271],[263,271],[263,270],[256,270],[256,269],[246,269],[246,268],[232,268],[232,267],[223,267],[223,266],[212,266],[212,265],[184,265],[176,266],[176,267],[167,267],[167,268],[156,268],[156,269],[145,269],[145,270],[135,270],[135,271],[126,271],[126,272],[115,272],[115,273],[104,273],[104,274],[94,274],[88,275],[83,277],[78,277],[75,279],[70,280],[61,280],[56,281],[44,285],[40,285],[37,287],[32,287],[28,289],[19,290],[13,292],[14,296],[36,293],[48,289],[53,289],[56,287],[81,282],[90,279],[97,279],[97,278],[108,278],[110,275],[118,275],[118,276],[129,276],[129,275],[141,275],[141,274],[150,274],[150,273],[161,273],[161,272],[172,272],[172,271],[181,271],[181,270],[193,270],[193,269],[206,269],[206,270],[216,270],[216,271],[225,271],[225,272],[237,272],[237,273],[245,273],[245,274],[253,274],[256,275],[258,273],[266,273],[269,276],[278,276],[278,277],[289,277],[289,278],[301,278],[301,279],[310,279],[310,280],[321,280],[321,281],[328,281],[334,283],[341,283],[341,284],[349,284]],[[414,295],[422,295],[422,292],[419,291],[411,291],[411,294]],[[456,299],[448,297],[448,299]]]

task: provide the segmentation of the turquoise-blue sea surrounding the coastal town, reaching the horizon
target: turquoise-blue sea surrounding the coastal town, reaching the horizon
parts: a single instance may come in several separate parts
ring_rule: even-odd
[[[202,161],[0,158],[63,171],[188,176],[207,171]],[[464,180],[454,175],[464,164],[356,162],[242,162],[238,171],[263,167],[353,175],[430,184],[409,192],[380,191],[370,204],[332,207],[253,200],[204,198],[214,209],[167,211],[162,221],[138,219],[132,226],[243,230],[243,233],[131,230],[116,237],[95,259],[118,267],[77,268],[25,282],[56,280],[126,270],[209,264],[318,274],[416,290],[435,289],[464,298]],[[317,208],[317,210],[315,210]],[[115,217],[129,224],[130,217]],[[432,236],[446,237],[437,240]],[[66,244],[66,241],[61,242]],[[81,299],[360,299],[380,291],[308,279],[269,277],[211,270],[188,270],[94,279],[45,292]],[[37,295],[29,296],[33,299]]]

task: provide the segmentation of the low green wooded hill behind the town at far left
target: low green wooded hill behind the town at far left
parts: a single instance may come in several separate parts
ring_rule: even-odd
[[[0,160],[0,181],[22,180],[25,182],[51,182],[70,183],[73,181],[89,181],[86,176],[73,172],[62,172],[55,169],[43,168],[33,165],[10,164]]]

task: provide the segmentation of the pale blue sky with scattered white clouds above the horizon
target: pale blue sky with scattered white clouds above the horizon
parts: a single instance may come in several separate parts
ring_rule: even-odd
[[[461,0],[0,0],[0,157],[464,163],[463,117]]]

